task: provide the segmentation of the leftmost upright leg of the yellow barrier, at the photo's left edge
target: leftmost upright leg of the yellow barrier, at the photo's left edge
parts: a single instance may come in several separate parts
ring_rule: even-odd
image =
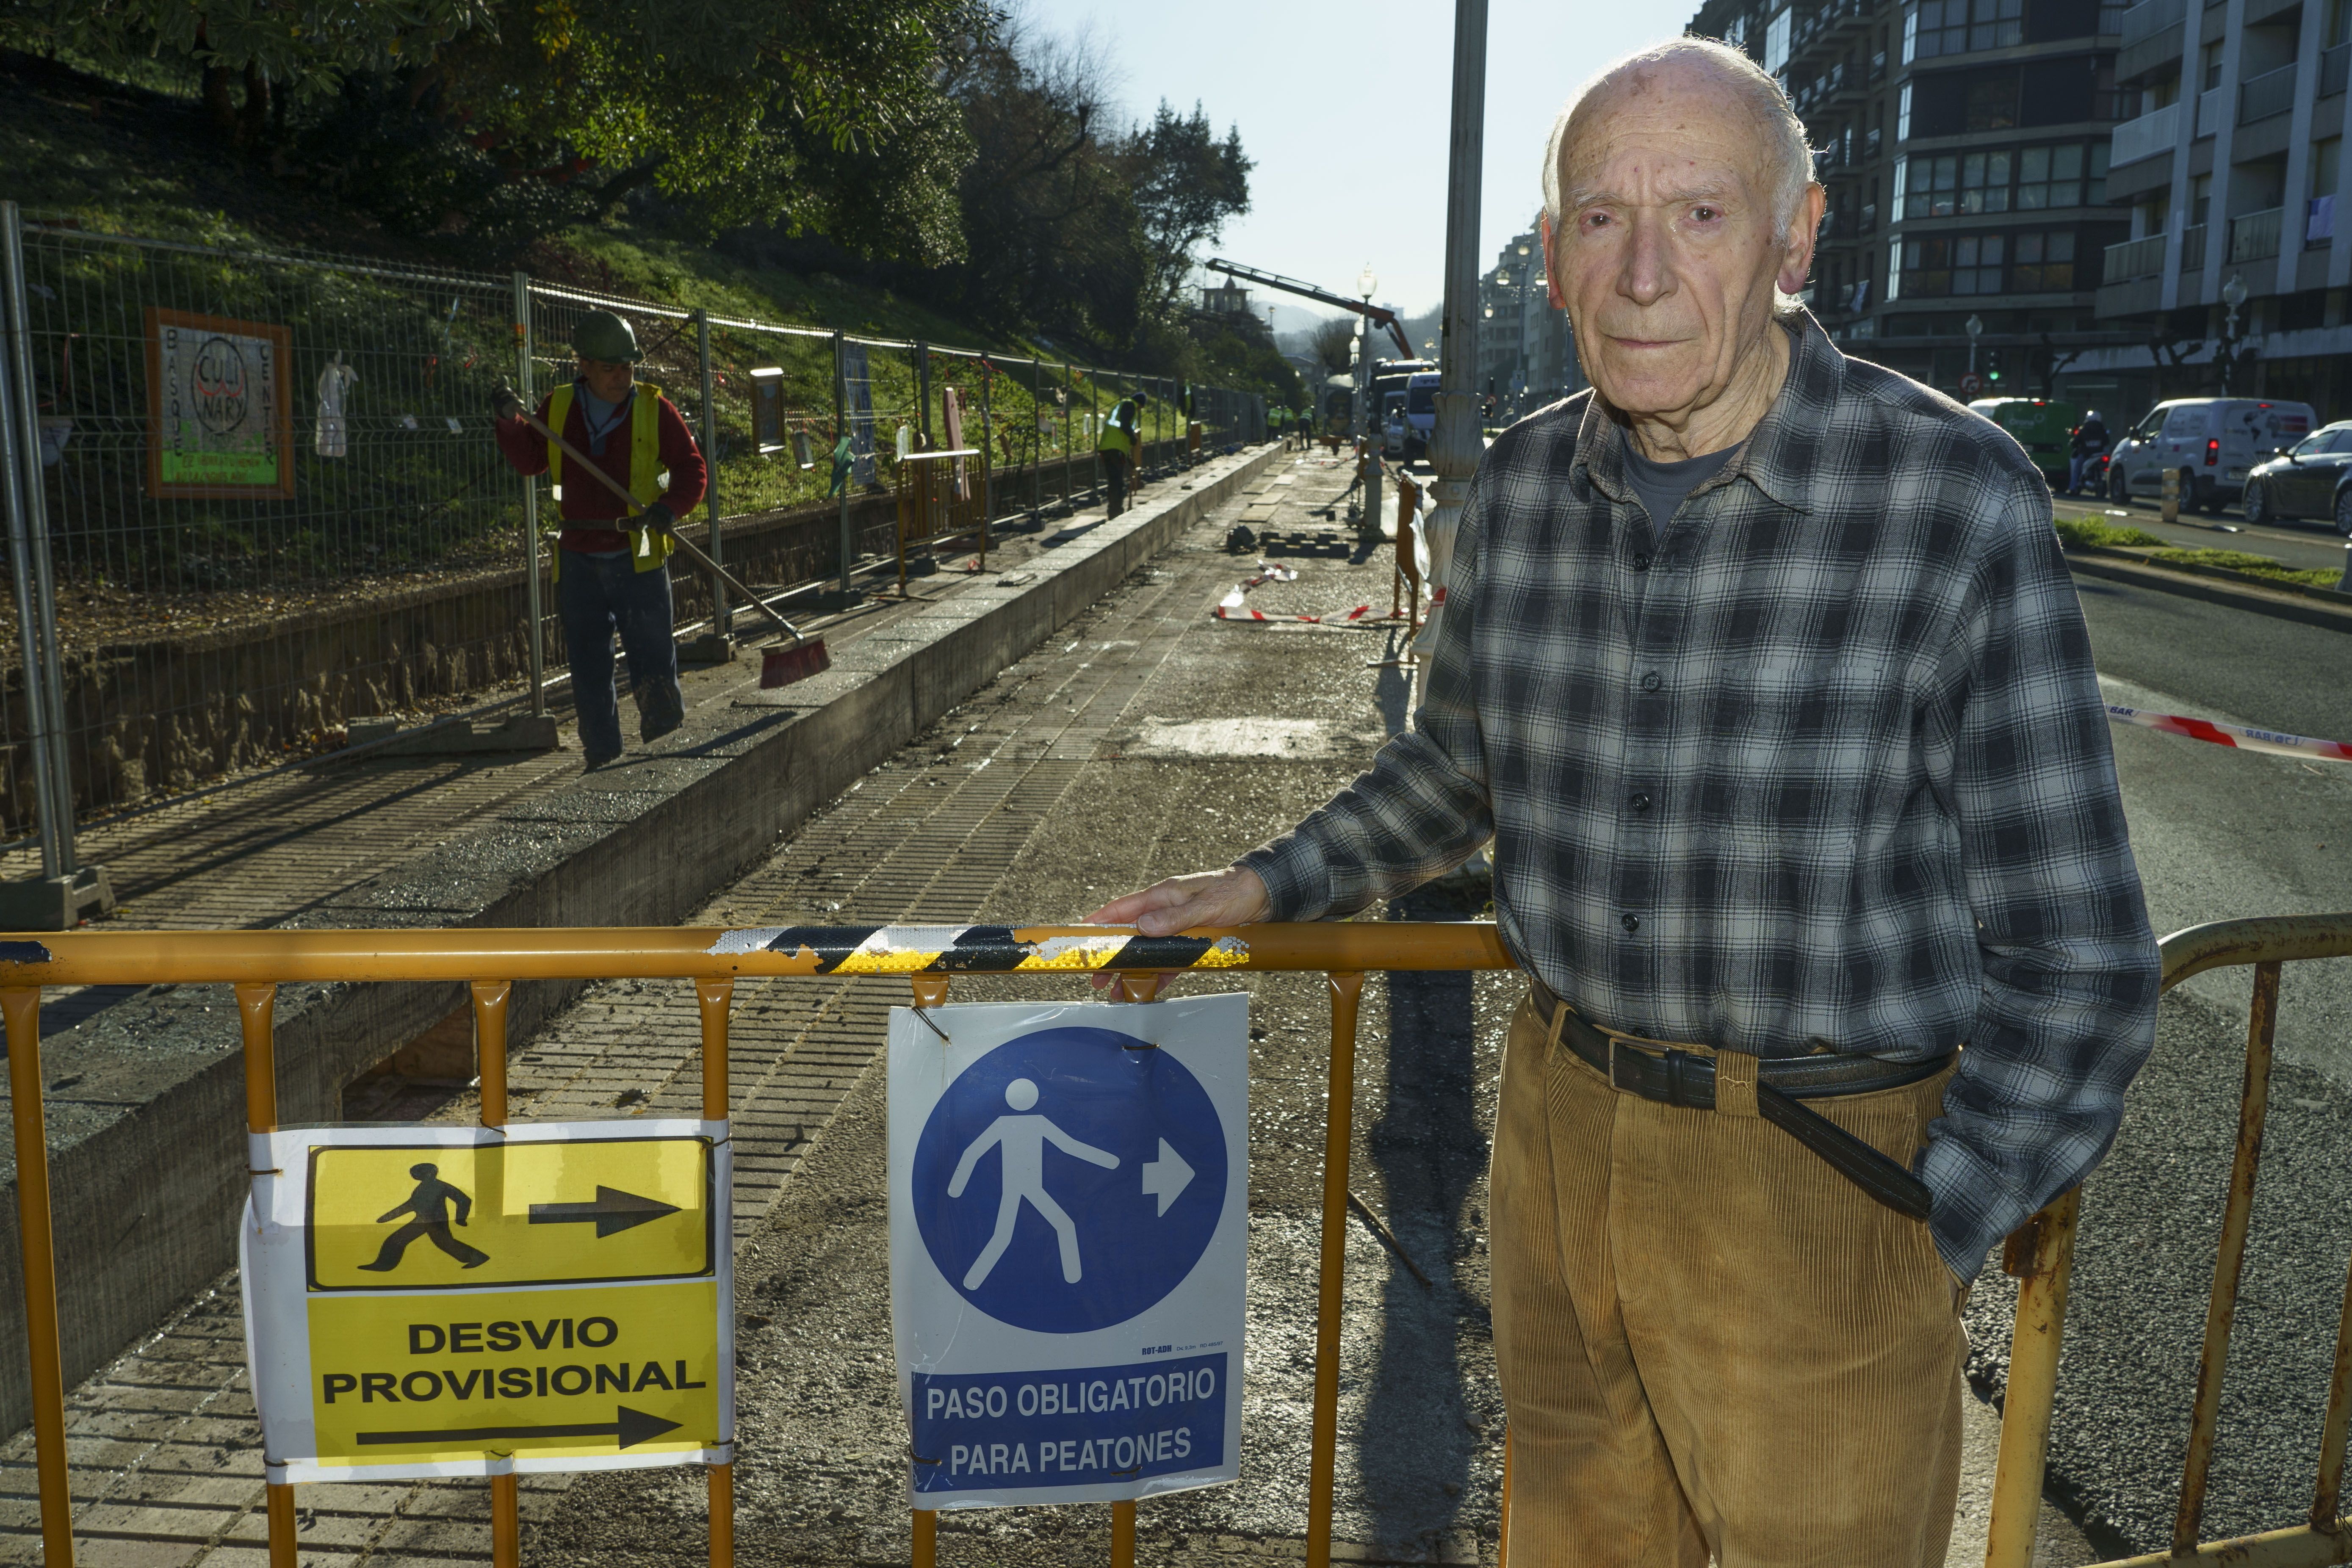
[[[7,1091],[16,1124],[16,1237],[24,1253],[24,1349],[33,1373],[33,1460],[40,1474],[40,1561],[73,1568],[66,1481],[66,1354],[56,1331],[56,1239],[49,1227],[49,1133],[40,1110],[40,987],[0,990]]]

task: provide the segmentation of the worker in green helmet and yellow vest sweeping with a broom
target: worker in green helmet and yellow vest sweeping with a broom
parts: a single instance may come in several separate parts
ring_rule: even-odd
[[[539,421],[597,468],[628,484],[637,508],[588,477],[564,482],[564,454],[522,418],[522,400],[501,386],[499,449],[524,475],[548,475],[562,510],[555,592],[572,665],[572,705],[590,769],[621,755],[621,703],[614,691],[612,637],[628,656],[628,691],[637,701],[637,738],[654,743],[687,717],[677,689],[677,642],[670,618],[673,529],[706,489],[703,449],[659,386],[637,381],[637,334],[612,310],[590,310],[572,331],[579,376],[555,388]],[[668,480],[668,487],[663,487]]]

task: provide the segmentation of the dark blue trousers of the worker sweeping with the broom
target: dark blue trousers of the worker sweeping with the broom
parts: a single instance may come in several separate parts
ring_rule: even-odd
[[[564,550],[564,658],[572,705],[588,766],[621,755],[621,703],[612,679],[612,635],[628,654],[628,691],[637,698],[637,736],[659,741],[687,717],[677,691],[677,642],[670,630],[670,569],[637,571],[628,550]]]

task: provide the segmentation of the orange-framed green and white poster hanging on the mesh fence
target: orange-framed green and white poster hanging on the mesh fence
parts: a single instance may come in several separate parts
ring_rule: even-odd
[[[292,496],[285,327],[148,306],[148,496]]]

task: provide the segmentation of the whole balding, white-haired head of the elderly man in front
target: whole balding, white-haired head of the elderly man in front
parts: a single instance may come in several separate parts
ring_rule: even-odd
[[[1788,369],[1773,308],[1823,207],[1773,80],[1698,38],[1635,54],[1562,110],[1543,193],[1552,301],[1642,451],[1743,440]]]

